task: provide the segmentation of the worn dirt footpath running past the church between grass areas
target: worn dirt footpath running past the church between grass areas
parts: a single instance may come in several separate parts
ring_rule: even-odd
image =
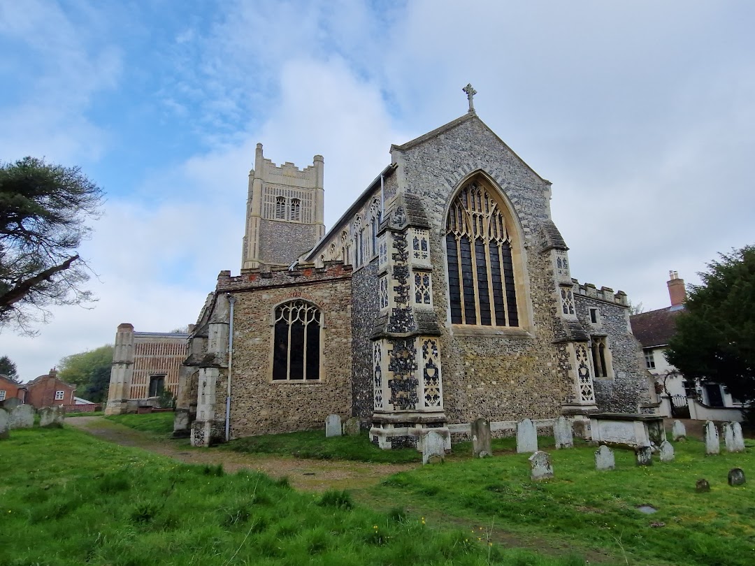
[[[374,464],[344,460],[300,460],[267,454],[240,454],[220,448],[193,448],[188,439],[155,438],[103,417],[69,417],[66,426],[89,432],[103,440],[143,448],[190,464],[222,464],[227,472],[253,469],[274,478],[288,477],[294,488],[325,491],[330,488],[368,488],[387,475],[412,469],[416,464]]]

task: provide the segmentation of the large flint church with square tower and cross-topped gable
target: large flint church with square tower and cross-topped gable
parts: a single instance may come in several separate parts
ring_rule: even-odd
[[[627,296],[572,278],[550,181],[464,90],[469,111],[391,146],[328,232],[322,156],[277,166],[257,144],[241,269],[220,272],[190,335],[176,435],[201,446],[340,414],[382,448],[430,429],[450,448],[479,417],[643,410]]]

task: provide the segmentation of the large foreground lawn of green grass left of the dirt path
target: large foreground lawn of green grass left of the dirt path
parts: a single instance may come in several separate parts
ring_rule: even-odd
[[[0,564],[529,564],[420,516],[374,512],[342,491],[304,494],[257,472],[223,473],[72,429],[0,441]]]

